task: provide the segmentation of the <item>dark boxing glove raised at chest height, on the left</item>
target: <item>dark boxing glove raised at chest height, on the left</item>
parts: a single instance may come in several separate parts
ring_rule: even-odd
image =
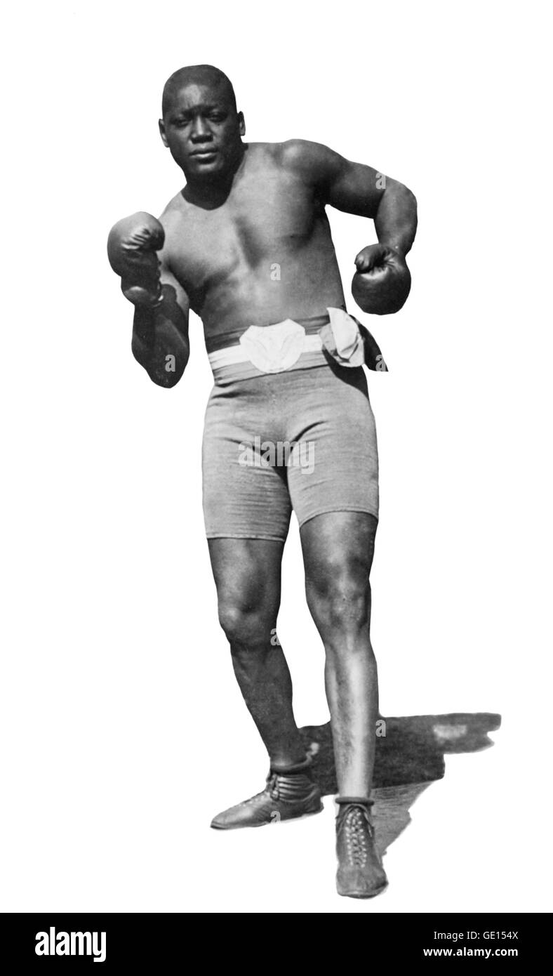
[[[162,225],[151,214],[125,217],[109,231],[107,257],[121,276],[121,291],[133,305],[155,307],[161,302],[160,262],[156,251],[165,240]]]

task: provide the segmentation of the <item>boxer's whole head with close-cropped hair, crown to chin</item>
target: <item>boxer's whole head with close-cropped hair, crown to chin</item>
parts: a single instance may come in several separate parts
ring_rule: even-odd
[[[187,180],[213,180],[233,171],[246,127],[222,71],[212,64],[179,68],[165,83],[161,111],[161,138]]]

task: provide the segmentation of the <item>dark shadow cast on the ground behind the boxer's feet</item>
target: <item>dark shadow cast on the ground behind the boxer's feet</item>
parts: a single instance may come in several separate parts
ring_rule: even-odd
[[[480,752],[494,743],[488,733],[501,724],[490,712],[407,715],[385,718],[376,726],[373,817],[381,854],[411,822],[415,799],[446,772],[444,755]],[[299,730],[313,756],[313,771],[323,795],[336,794],[336,769],[330,722]],[[385,731],[385,735],[382,732]]]

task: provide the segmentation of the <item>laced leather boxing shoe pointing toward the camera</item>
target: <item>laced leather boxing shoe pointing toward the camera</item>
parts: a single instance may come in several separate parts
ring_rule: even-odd
[[[336,796],[336,890],[349,898],[373,898],[388,879],[375,848],[375,828],[363,796]]]

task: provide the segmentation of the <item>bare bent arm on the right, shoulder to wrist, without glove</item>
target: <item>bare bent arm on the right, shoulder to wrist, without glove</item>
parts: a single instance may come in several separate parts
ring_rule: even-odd
[[[319,142],[284,143],[290,165],[314,183],[323,203],[375,221],[378,241],[406,255],[416,232],[415,195],[371,166],[352,163]]]

